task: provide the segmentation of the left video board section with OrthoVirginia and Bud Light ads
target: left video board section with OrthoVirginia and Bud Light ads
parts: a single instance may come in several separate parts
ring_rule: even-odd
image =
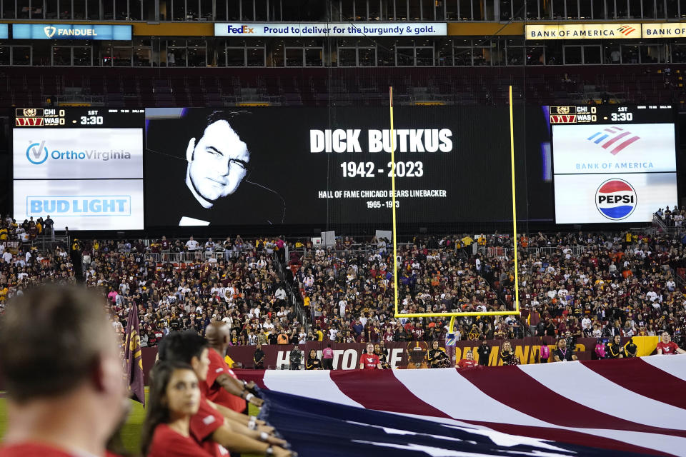
[[[58,229],[144,228],[143,109],[16,109],[14,217]]]

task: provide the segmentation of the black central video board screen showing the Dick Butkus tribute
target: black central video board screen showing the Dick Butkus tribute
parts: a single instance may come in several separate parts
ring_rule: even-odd
[[[149,226],[388,224],[388,108],[146,109]],[[394,109],[398,222],[511,220],[507,107]]]

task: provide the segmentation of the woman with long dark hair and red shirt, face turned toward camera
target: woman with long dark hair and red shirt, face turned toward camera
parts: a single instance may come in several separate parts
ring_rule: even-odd
[[[150,373],[148,408],[141,448],[146,457],[212,457],[191,436],[191,417],[198,412],[200,388],[186,363],[160,362]]]

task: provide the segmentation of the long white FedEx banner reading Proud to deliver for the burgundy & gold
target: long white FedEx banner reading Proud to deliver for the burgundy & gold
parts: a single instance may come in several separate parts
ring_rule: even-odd
[[[312,23],[225,23],[214,24],[214,36],[445,36],[445,22],[312,22]]]

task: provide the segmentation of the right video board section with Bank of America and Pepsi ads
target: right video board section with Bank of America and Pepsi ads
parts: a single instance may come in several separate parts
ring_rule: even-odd
[[[550,106],[557,224],[649,222],[677,204],[672,106]]]

